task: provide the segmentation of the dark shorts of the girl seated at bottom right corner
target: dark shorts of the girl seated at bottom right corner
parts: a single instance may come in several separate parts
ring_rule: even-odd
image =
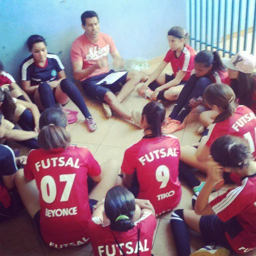
[[[200,231],[205,243],[217,243],[233,252],[225,236],[223,221],[216,215],[205,215],[200,218]]]

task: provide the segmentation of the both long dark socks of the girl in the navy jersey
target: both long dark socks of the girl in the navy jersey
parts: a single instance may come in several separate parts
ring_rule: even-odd
[[[64,93],[66,93],[69,96],[69,98],[74,102],[74,104],[77,105],[77,107],[79,108],[79,110],[81,110],[85,118],[92,116],[84,102],[82,94],[73,82],[65,78],[61,80],[60,87],[61,90]],[[54,93],[49,84],[47,84],[46,82],[39,84],[38,92],[44,109],[50,108],[56,104]]]

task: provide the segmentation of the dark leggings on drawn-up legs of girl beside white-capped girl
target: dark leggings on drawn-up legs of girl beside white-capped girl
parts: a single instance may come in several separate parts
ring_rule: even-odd
[[[172,113],[169,115],[169,117],[179,120],[182,123],[192,110],[192,108],[189,106],[189,100],[192,98],[197,99],[200,96],[202,97],[205,88],[209,84],[212,84],[212,81],[209,78],[197,77],[195,74],[192,74],[179,94],[179,97],[176,100]]]

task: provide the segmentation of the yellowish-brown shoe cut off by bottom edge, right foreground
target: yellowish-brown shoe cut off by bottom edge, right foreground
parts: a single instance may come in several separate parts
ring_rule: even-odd
[[[215,243],[209,243],[204,248],[191,253],[190,256],[228,256],[230,255],[230,251],[222,246],[216,245]]]

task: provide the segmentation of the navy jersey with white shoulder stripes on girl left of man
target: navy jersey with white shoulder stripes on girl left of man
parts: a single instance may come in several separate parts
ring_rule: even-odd
[[[31,55],[20,65],[21,80],[31,81],[31,85],[51,82],[58,79],[57,73],[63,69],[64,66],[56,54],[47,54],[44,67],[39,67]]]

